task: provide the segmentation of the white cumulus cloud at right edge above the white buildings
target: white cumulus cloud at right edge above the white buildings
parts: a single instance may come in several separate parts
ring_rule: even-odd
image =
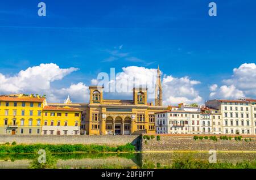
[[[256,96],[256,65],[243,63],[233,69],[233,75],[222,81],[224,85],[213,88],[210,97],[214,98],[242,98]]]

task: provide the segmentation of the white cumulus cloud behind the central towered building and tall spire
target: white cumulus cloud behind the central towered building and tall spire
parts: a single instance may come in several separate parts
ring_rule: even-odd
[[[123,67],[122,72],[115,76],[115,81],[106,80],[105,92],[110,92],[110,86],[114,86],[115,91],[119,93],[132,92],[133,87],[147,88],[149,100],[155,98],[155,83],[157,70],[155,68],[146,68],[138,66]],[[98,77],[99,78],[99,77]],[[99,78],[101,79],[101,78]],[[103,78],[104,79],[104,78]],[[93,80],[96,83],[96,80]],[[97,82],[103,84],[101,81]],[[191,80],[188,76],[175,78],[171,75],[164,75],[162,81],[163,104],[177,105],[180,102],[203,103],[203,98],[196,90],[196,85],[200,84],[197,80]]]

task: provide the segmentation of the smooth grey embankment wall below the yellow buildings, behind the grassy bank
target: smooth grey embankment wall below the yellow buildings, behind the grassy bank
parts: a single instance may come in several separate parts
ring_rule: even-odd
[[[106,144],[123,145],[126,143],[136,144],[138,135],[0,135],[0,143],[18,144]]]

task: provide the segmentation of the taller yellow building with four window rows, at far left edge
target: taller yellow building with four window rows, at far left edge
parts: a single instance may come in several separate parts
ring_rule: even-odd
[[[0,134],[41,134],[46,98],[0,96]]]

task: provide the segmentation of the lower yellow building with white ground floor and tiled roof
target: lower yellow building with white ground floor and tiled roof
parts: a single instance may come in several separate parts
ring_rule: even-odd
[[[79,135],[82,110],[68,106],[43,108],[43,135]]]

